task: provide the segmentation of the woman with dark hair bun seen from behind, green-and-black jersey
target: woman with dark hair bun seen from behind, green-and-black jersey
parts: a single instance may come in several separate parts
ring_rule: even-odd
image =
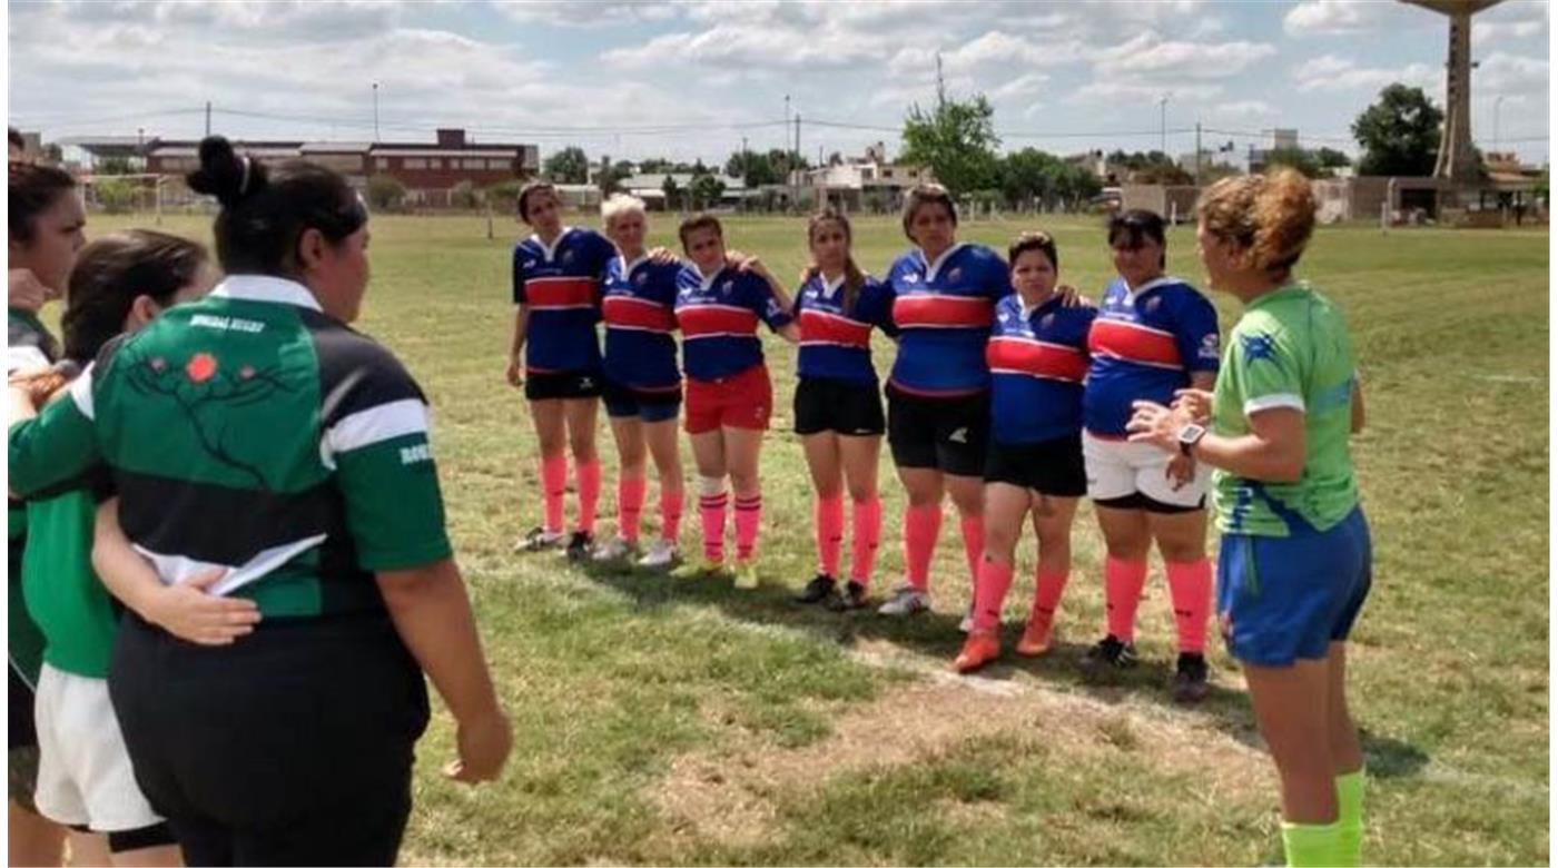
[[[193,865],[391,865],[411,809],[425,672],[456,779],[494,778],[509,726],[444,530],[427,402],[354,332],[368,213],[346,179],[221,137],[227,277],[111,341],[70,399],[11,429],[11,488],[112,471],[125,536],[168,583],[223,570],[256,630],[184,642],[126,614],[109,692],[136,779]]]

